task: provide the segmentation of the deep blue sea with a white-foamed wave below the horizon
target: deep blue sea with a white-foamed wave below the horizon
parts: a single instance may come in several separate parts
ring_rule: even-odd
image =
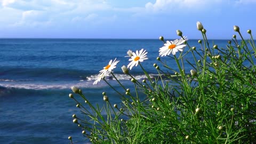
[[[173,40],[173,39],[166,39]],[[209,40],[211,46],[226,47],[225,40]],[[190,46],[201,49],[198,39],[189,39]],[[0,143],[90,143],[82,135],[81,127],[73,123],[73,114],[81,115],[76,102],[69,98],[71,86],[81,89],[93,105],[102,106],[102,92],[111,103],[121,103],[119,95],[104,81],[93,82],[99,71],[110,60],[118,60],[115,76],[128,88],[133,88],[131,78],[123,74],[121,67],[129,64],[125,57],[128,50],[144,49],[148,60],[142,67],[151,75],[157,71],[154,63],[163,42],[159,39],[47,39],[1,38],[0,39]],[[184,52],[188,51],[188,46]],[[173,69],[175,61],[161,58]],[[189,73],[193,61],[191,53],[183,57]],[[164,68],[163,68],[164,69]],[[130,74],[138,80],[145,78],[141,68],[133,67]],[[113,77],[107,81],[116,86]],[[74,94],[79,99],[79,95]]]

